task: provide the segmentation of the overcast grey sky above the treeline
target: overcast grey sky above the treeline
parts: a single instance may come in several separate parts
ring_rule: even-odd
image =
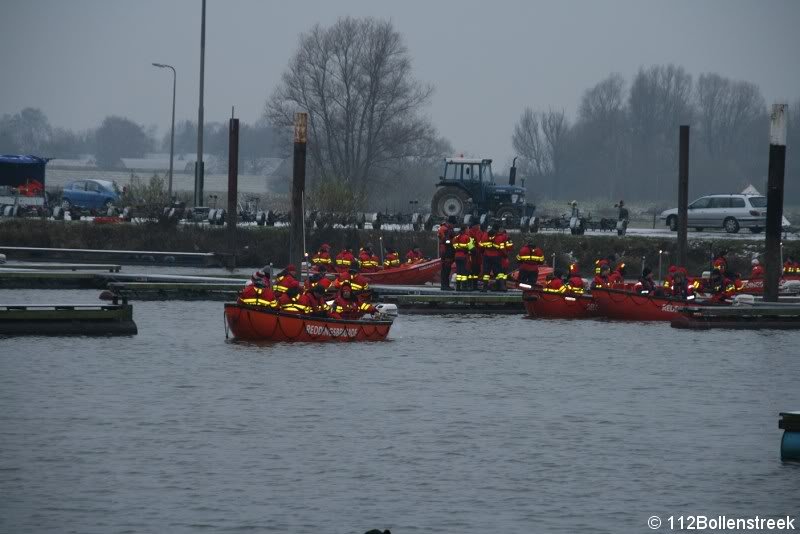
[[[54,126],[106,115],[169,124],[197,118],[199,0],[2,0],[0,113],[39,107]],[[800,97],[800,1],[208,0],[207,121],[235,105],[246,121],[294,52],[298,34],[344,15],[391,18],[417,77],[436,88],[428,112],[457,152],[512,154],[525,106],[564,108],[610,72],[675,63],[758,84],[767,102]]]

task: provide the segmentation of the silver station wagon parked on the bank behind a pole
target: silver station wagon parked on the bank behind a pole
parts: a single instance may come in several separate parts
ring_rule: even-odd
[[[676,231],[678,208],[663,211],[661,220]],[[735,234],[740,228],[749,228],[757,234],[766,224],[767,198],[761,195],[708,195],[689,204],[688,226],[698,231],[722,228]]]

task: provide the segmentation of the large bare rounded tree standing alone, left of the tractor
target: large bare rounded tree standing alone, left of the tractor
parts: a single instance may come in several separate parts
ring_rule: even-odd
[[[402,36],[390,21],[342,18],[314,26],[266,105],[278,126],[309,114],[309,155],[323,179],[363,184],[376,170],[420,155],[435,138],[421,115],[432,88],[412,76]]]

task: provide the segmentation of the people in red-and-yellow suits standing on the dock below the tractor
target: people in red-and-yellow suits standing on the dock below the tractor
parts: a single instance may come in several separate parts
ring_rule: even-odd
[[[442,258],[441,289],[443,291],[507,291],[510,259],[514,243],[502,225],[474,223],[456,227],[455,217],[439,225],[439,256]],[[533,242],[526,242],[516,255],[519,282],[535,284],[544,252]],[[456,267],[455,288],[450,275]]]

